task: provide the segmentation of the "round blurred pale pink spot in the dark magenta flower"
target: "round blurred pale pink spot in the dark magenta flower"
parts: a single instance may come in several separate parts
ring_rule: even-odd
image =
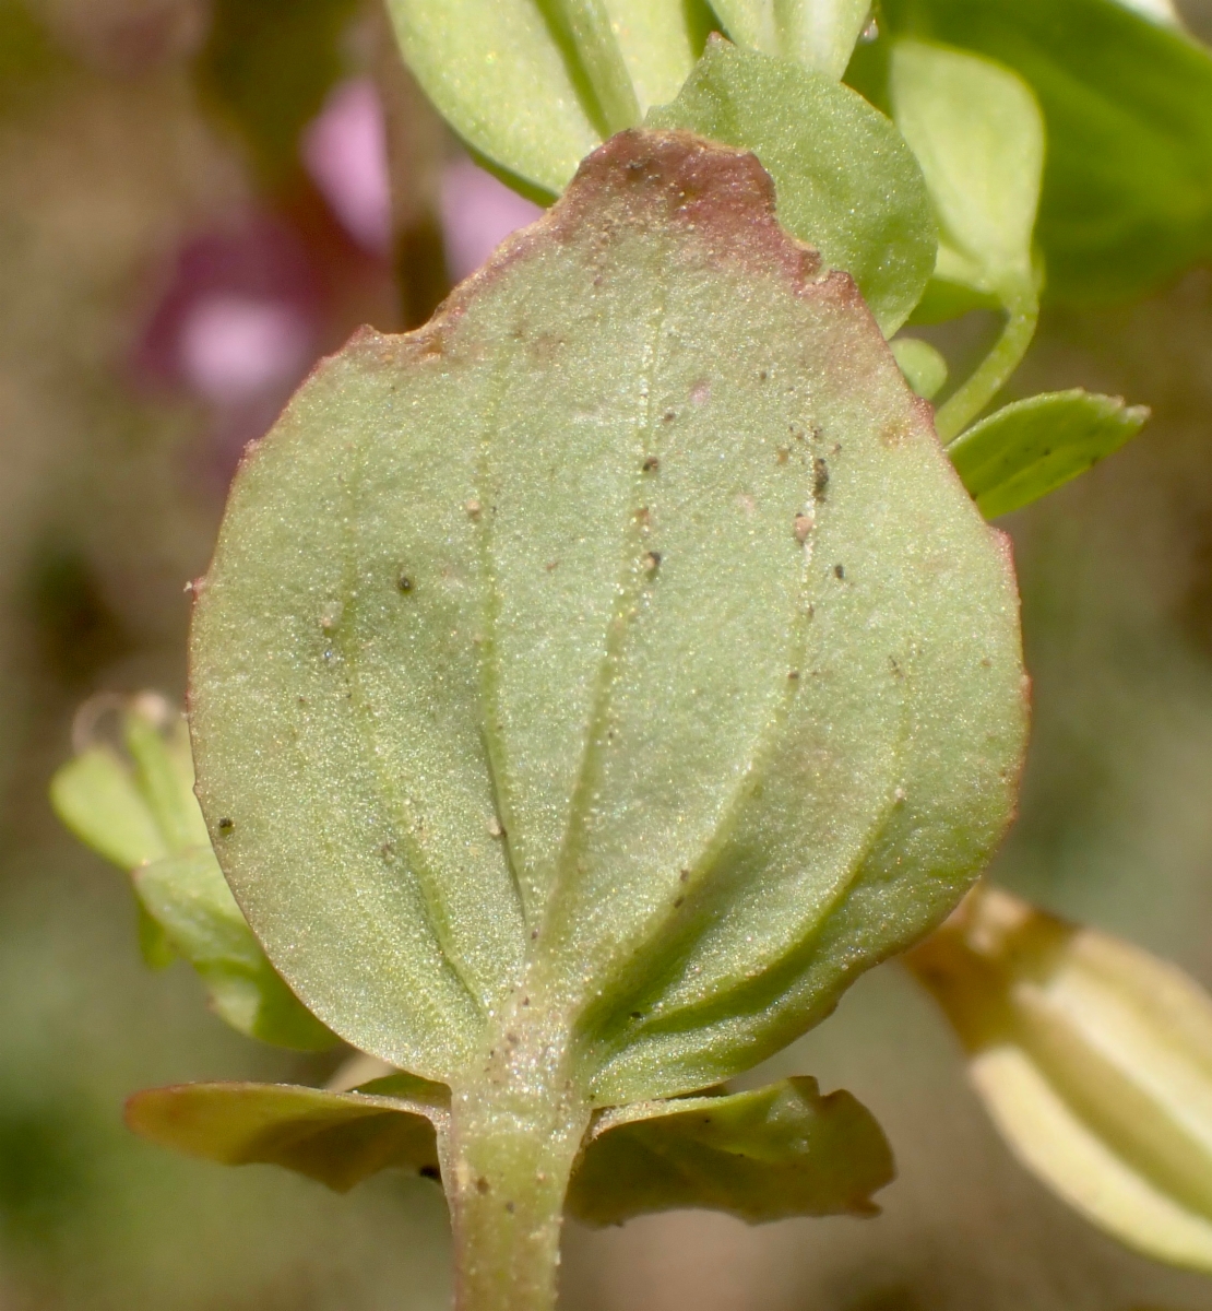
[[[238,405],[295,380],[311,359],[312,328],[288,302],[215,292],[190,308],[178,350],[194,392]]]

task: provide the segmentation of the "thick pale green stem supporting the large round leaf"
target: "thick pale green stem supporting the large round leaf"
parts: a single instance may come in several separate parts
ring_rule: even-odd
[[[550,1047],[527,1037],[502,1034],[482,1078],[452,1097],[442,1173],[456,1311],[556,1307],[563,1200],[590,1106],[553,1078]]]

